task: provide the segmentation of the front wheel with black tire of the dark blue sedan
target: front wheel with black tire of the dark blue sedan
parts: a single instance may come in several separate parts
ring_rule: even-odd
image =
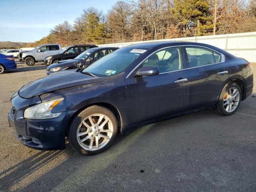
[[[80,154],[98,154],[113,144],[117,130],[114,114],[103,106],[93,105],[72,120],[68,140]]]

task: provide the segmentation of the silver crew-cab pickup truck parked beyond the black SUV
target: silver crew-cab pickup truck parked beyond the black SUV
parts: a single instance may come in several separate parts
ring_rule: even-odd
[[[60,44],[44,44],[39,45],[30,52],[22,53],[21,60],[28,66],[32,66],[35,62],[44,61],[44,57],[56,54],[61,51]]]

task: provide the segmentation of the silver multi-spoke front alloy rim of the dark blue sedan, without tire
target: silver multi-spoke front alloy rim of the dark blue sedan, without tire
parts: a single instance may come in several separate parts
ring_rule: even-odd
[[[84,150],[95,151],[108,144],[113,130],[113,122],[108,116],[92,114],[84,118],[78,126],[76,139]]]

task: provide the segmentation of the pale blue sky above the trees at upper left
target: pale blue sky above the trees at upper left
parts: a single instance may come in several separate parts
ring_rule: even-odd
[[[107,13],[117,0],[0,0],[0,41],[34,42],[51,28],[96,7]]]

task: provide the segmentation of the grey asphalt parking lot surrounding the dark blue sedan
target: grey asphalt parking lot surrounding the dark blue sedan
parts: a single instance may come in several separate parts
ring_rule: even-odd
[[[256,84],[256,64],[254,85]],[[150,124],[118,137],[106,152],[82,156],[22,146],[8,127],[10,96],[45,76],[46,66],[0,75],[2,191],[256,191],[256,89],[237,113],[213,110]]]

